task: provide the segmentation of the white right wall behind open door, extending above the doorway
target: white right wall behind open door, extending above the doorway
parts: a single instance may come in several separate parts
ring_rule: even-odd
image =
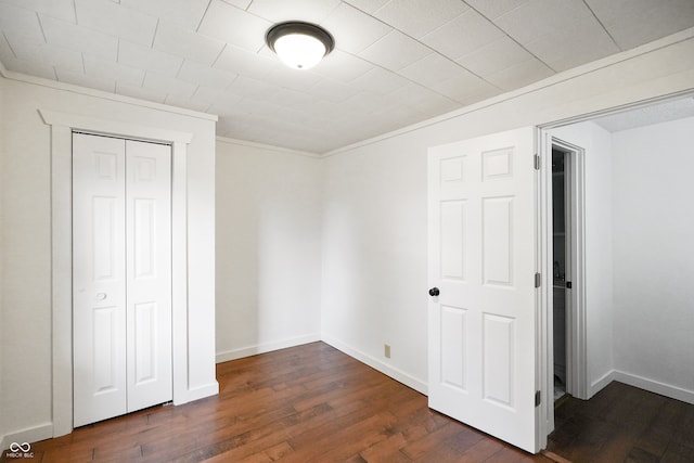
[[[420,390],[427,378],[426,150],[694,87],[692,30],[325,159],[322,335]],[[393,358],[383,345],[393,346]]]

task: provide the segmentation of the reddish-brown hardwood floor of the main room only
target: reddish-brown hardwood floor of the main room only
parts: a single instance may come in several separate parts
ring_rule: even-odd
[[[219,396],[35,442],[33,460],[551,462],[430,411],[423,395],[323,343],[220,363],[217,378]]]

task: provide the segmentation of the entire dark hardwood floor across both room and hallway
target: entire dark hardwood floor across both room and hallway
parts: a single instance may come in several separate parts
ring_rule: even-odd
[[[557,409],[530,455],[430,411],[426,397],[323,344],[217,365],[220,394],[33,443],[9,462],[694,461],[694,406],[618,383]]]

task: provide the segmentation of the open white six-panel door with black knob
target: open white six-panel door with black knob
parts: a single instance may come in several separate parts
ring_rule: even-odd
[[[535,129],[428,151],[429,407],[536,452]]]

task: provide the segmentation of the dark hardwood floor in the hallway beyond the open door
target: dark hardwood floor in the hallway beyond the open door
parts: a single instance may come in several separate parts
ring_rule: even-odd
[[[694,406],[613,382],[557,406],[548,450],[574,463],[692,463]]]

